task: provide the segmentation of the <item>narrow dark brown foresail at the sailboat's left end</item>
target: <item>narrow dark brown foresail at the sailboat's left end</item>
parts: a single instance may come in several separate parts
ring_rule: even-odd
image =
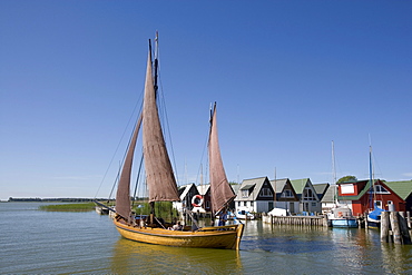
[[[126,219],[129,219],[131,214],[130,208],[130,175],[131,165],[135,155],[136,140],[139,134],[141,124],[141,115],[136,124],[135,131],[133,134],[129,148],[126,155],[125,164],[121,169],[119,186],[116,193],[116,212]]]

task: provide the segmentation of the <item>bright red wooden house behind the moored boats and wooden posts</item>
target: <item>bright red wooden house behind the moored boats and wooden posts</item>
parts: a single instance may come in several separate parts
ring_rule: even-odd
[[[405,210],[405,200],[380,180],[356,180],[337,185],[337,200],[351,206],[353,215],[360,216],[373,208],[374,204],[385,210]]]

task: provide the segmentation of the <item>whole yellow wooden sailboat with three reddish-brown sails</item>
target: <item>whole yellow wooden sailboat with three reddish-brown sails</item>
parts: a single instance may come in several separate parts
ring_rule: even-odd
[[[150,48],[150,47],[149,47]],[[136,148],[137,136],[141,126],[143,151],[145,160],[146,181],[149,189],[149,203],[179,200],[176,179],[168,157],[165,139],[161,131],[156,102],[156,67],[153,71],[151,49],[149,49],[146,70],[145,98],[143,114],[136,125],[129,145],[116,195],[115,226],[125,238],[157,245],[180,247],[205,247],[238,249],[244,225],[210,226],[196,230],[184,227],[180,230],[170,230],[150,214],[148,220],[136,219],[130,208],[130,173]],[[235,194],[228,185],[223,167],[217,137],[216,105],[212,110],[209,130],[209,173],[210,199],[213,213],[216,215],[234,199]],[[154,209],[154,208],[153,208]]]

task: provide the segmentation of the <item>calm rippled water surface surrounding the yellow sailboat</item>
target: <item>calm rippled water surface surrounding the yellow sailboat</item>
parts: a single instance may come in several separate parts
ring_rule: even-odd
[[[412,246],[364,229],[248,222],[241,252],[124,239],[108,216],[0,203],[0,274],[412,274]]]

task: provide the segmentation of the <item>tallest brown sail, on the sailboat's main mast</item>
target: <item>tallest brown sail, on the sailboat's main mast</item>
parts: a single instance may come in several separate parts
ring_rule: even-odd
[[[179,200],[176,179],[167,154],[156,105],[150,52],[146,70],[143,144],[149,202]]]

